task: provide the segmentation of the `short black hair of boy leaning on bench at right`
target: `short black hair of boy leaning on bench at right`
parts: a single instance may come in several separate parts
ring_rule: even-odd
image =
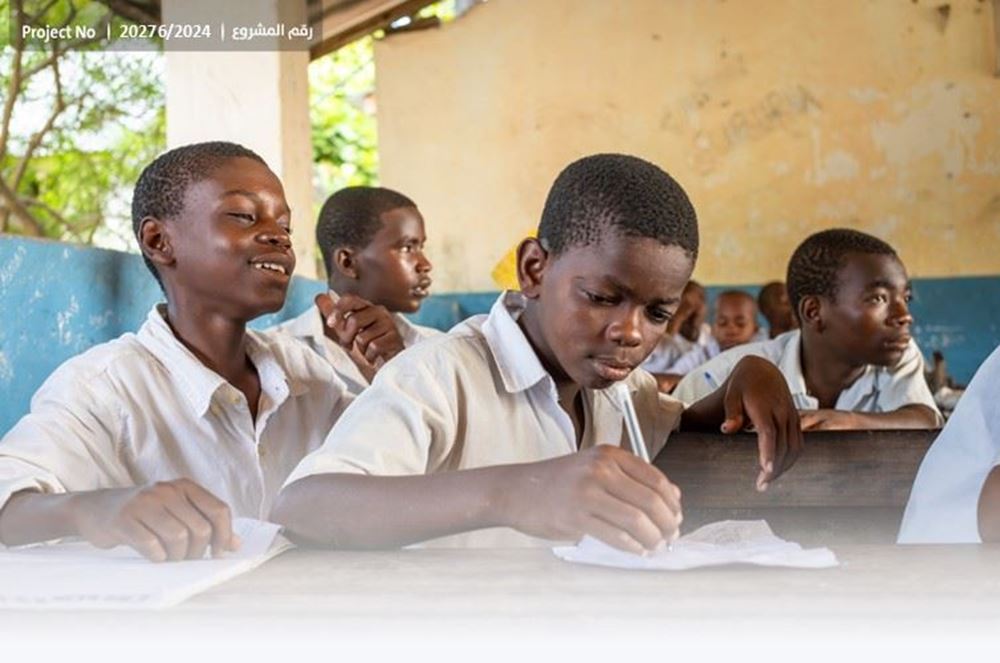
[[[836,297],[837,274],[851,253],[896,256],[896,250],[878,237],[849,228],[822,230],[799,244],[788,261],[785,279],[788,301],[796,318],[804,297]]]

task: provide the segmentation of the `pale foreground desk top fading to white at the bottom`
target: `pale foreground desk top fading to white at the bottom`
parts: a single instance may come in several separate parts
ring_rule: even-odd
[[[176,661],[166,654],[188,651],[191,639],[223,651],[226,661],[237,652],[291,661],[289,651],[303,647],[328,648],[332,660],[341,660],[333,653],[370,660],[373,652],[411,660],[427,646],[441,648],[433,660],[468,661],[473,652],[477,661],[498,653],[515,661],[526,639],[587,660],[620,655],[629,644],[674,653],[728,647],[740,661],[811,663],[824,652],[843,654],[859,637],[889,643],[895,654],[938,646],[954,653],[969,643],[988,643],[995,654],[1000,546],[835,551],[842,562],[835,569],[670,573],[569,564],[547,549],[298,550],[167,611],[2,611],[0,642],[4,651],[26,643],[33,660],[40,642],[47,653],[100,642],[101,661],[117,653],[134,659],[134,648],[150,643]],[[808,658],[796,643],[810,645]]]

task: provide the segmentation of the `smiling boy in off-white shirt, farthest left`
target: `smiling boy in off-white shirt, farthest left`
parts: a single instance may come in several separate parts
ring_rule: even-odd
[[[330,365],[246,328],[285,301],[295,255],[281,182],[233,143],[171,150],[132,223],[166,304],[74,357],[0,441],[0,543],[81,536],[152,560],[238,545],[352,400]]]

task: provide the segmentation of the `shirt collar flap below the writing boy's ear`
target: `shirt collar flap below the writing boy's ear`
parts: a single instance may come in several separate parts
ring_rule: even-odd
[[[524,305],[525,298],[520,292],[500,293],[482,328],[504,388],[509,393],[529,389],[546,378],[552,379],[517,324]]]

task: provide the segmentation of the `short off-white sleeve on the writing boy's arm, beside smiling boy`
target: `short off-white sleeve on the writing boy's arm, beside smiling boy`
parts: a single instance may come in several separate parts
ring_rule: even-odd
[[[403,476],[446,465],[459,426],[458,376],[418,355],[386,364],[285,485],[316,474]]]

